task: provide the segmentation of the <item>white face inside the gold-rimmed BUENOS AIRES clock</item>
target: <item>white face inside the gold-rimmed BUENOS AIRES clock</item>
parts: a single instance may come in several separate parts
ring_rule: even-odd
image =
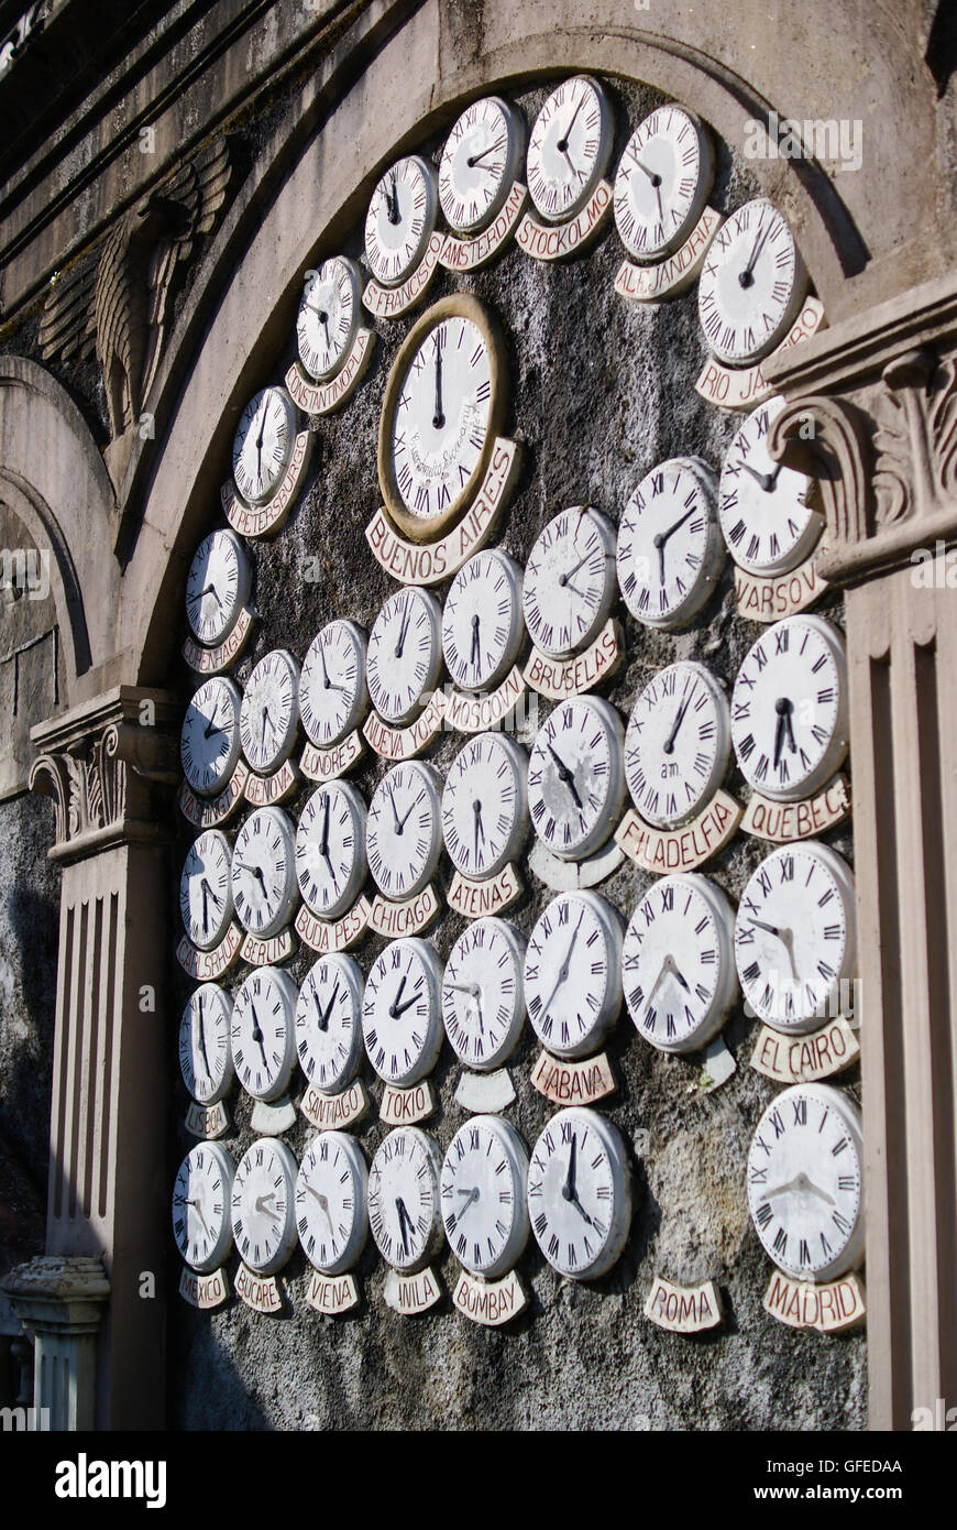
[[[391,419],[391,471],[423,528],[463,500],[489,439],[492,355],[463,314],[439,318],[416,347]]]

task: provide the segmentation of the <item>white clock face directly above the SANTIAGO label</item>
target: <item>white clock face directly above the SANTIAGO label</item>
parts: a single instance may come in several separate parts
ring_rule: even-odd
[[[323,1094],[355,1077],[362,1054],[362,972],[352,956],[321,956],[306,975],[295,1007],[300,1068]]]

